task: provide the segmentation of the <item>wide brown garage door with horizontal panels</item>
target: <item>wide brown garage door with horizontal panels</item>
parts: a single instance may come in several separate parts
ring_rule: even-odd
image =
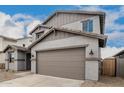
[[[37,73],[42,75],[84,79],[84,48],[37,52]]]

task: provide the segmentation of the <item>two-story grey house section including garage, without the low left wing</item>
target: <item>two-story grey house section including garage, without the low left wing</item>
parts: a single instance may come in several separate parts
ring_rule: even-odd
[[[57,11],[31,31],[31,72],[71,79],[99,79],[106,46],[105,13]]]

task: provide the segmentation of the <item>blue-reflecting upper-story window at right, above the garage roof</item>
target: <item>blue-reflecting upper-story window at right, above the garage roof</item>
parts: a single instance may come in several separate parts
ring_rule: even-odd
[[[82,30],[85,32],[93,32],[93,20],[82,21]]]

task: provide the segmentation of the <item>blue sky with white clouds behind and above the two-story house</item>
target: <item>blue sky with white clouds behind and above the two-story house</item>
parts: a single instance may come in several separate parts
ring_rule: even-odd
[[[116,5],[1,5],[0,34],[10,37],[24,36],[29,33],[34,26],[41,23],[56,10],[89,10],[106,12],[105,34],[108,35],[107,46],[116,48],[124,47],[124,6]]]

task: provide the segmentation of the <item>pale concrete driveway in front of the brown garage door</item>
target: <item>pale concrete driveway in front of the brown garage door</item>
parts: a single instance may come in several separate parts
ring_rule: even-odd
[[[83,80],[32,74],[0,83],[0,87],[80,87]]]

